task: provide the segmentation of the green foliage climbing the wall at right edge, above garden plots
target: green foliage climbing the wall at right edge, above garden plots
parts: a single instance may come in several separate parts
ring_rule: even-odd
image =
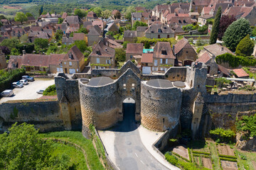
[[[256,114],[242,116],[236,125],[239,131],[247,132],[250,137],[256,137]]]

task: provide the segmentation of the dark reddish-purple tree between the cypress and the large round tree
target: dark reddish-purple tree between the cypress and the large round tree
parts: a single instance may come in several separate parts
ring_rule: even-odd
[[[220,28],[218,31],[219,40],[222,40],[225,30],[227,30],[228,26],[230,26],[230,24],[233,23],[234,21],[236,21],[236,18],[234,16],[221,16]]]

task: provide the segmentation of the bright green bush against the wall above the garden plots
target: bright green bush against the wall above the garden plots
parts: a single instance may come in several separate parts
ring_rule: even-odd
[[[233,130],[225,130],[223,128],[217,128],[215,130],[210,130],[210,135],[213,139],[220,140],[220,142],[230,142],[235,140],[235,132]]]

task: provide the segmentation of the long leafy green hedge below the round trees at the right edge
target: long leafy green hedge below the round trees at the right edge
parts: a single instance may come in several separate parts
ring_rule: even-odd
[[[217,64],[221,64],[222,62],[228,62],[230,67],[238,67],[242,66],[255,66],[256,60],[253,57],[242,57],[231,55],[230,53],[225,53],[223,55],[218,55],[215,58]]]

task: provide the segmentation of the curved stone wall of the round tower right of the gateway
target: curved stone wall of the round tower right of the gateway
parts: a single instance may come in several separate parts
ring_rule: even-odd
[[[174,129],[181,113],[181,89],[156,88],[145,81],[141,89],[142,125],[155,131]]]

